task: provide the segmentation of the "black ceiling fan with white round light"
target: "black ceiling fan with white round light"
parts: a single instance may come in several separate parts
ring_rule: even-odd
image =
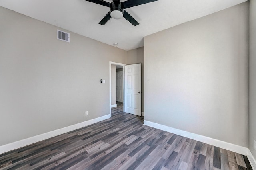
[[[154,2],[157,0],[127,0],[124,2],[120,2],[120,0],[113,0],[113,2],[106,2],[104,0],[86,0],[89,2],[93,2],[96,4],[100,4],[103,6],[110,7],[110,12],[104,16],[104,18],[100,21],[100,25],[105,25],[105,23],[110,20],[110,18],[114,19],[120,19],[124,17],[127,21],[129,21],[132,25],[136,26],[139,25],[139,23],[126,12],[126,8],[130,8],[137,5],[146,4],[149,2]]]

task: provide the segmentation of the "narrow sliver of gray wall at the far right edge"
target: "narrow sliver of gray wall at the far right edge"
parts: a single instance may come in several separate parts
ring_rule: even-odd
[[[254,158],[256,140],[256,0],[250,0],[250,38],[249,38],[249,149]]]

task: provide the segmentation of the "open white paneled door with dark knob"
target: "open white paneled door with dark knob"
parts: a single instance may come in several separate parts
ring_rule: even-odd
[[[141,64],[124,66],[124,112],[141,116]]]

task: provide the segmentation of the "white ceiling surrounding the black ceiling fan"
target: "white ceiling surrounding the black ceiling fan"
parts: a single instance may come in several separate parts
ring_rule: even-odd
[[[0,0],[0,6],[109,45],[118,43],[120,49],[131,50],[144,46],[147,35],[245,1],[159,0],[126,9],[140,23],[136,27],[124,18],[111,18],[106,25],[98,24],[110,8],[85,0]]]

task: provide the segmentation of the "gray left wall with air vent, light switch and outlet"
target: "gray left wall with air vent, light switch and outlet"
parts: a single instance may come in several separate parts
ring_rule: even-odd
[[[6,8],[0,16],[0,145],[109,114],[109,61],[125,63],[127,51],[72,32],[57,40],[60,28]]]

